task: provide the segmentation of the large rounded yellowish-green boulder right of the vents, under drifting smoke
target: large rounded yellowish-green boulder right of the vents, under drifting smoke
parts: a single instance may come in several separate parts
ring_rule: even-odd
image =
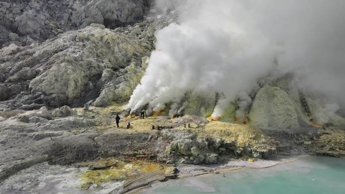
[[[295,105],[278,87],[261,88],[249,113],[250,123],[264,128],[296,128],[299,126]]]

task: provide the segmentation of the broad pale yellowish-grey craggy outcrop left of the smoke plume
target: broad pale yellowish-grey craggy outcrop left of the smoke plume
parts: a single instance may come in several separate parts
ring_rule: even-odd
[[[105,106],[128,100],[154,49],[154,32],[172,22],[174,13],[115,30],[93,24],[31,46],[11,44],[0,50],[0,100],[16,107],[79,106],[90,100]],[[136,27],[137,28],[137,27]],[[143,57],[143,58],[142,58]],[[93,102],[91,101],[91,102]]]

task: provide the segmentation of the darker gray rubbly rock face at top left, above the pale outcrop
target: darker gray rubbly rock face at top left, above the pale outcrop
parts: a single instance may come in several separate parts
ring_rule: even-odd
[[[30,35],[43,41],[67,30],[84,28],[92,23],[116,28],[143,19],[152,0],[28,0],[15,4],[0,2],[0,48],[9,41],[24,37],[9,37],[10,33]],[[25,43],[24,43],[25,45]]]

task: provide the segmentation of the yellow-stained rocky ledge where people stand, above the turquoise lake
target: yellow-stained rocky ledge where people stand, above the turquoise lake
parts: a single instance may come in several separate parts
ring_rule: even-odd
[[[120,128],[113,123],[116,114],[123,118]],[[3,111],[1,116],[4,117],[0,121],[1,179],[44,161],[51,165],[95,161],[87,163],[91,171],[87,171],[88,175],[85,176],[89,179],[83,185],[89,187],[101,184],[97,181],[102,175],[99,173],[104,172],[93,170],[116,168],[115,163],[101,162],[104,165],[98,165],[97,161],[106,158],[125,163],[142,161],[146,162],[145,165],[157,164],[165,168],[182,164],[224,164],[232,159],[255,161],[299,154],[339,157],[345,151],[345,131],[336,127],[262,130],[246,124],[209,121],[189,115],[179,118],[156,115],[138,119],[137,116],[129,116],[123,106],[117,104],[105,108],[91,107],[89,111],[67,106],[51,110],[45,107],[32,111],[12,110]],[[148,173],[146,178],[126,175],[117,181],[127,181],[130,177],[152,181],[174,177],[173,174],[158,175]],[[134,189],[145,184],[130,185]],[[120,190],[132,189],[131,186]]]

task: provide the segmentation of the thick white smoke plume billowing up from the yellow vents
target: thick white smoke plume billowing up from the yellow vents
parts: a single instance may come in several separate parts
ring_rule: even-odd
[[[272,71],[294,72],[301,87],[345,104],[339,98],[345,95],[345,1],[192,0],[184,6],[180,24],[156,33],[156,50],[129,108],[149,104],[158,111],[175,102],[176,112],[185,93],[197,90],[223,94],[219,103],[244,91],[245,110],[250,100],[243,94]],[[221,107],[214,115],[221,116]]]

